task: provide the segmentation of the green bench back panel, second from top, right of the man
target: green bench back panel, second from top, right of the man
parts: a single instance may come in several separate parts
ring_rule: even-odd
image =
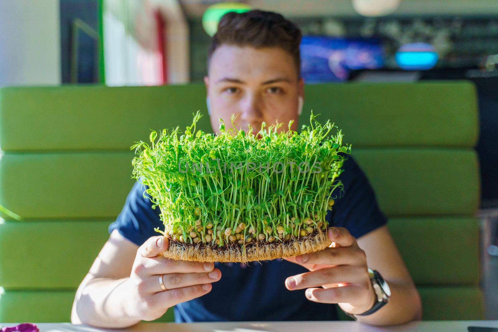
[[[354,149],[388,216],[474,216],[479,206],[473,150]]]

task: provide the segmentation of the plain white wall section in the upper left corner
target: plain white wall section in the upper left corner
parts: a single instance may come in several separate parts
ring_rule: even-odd
[[[0,0],[0,86],[61,82],[59,0]]]

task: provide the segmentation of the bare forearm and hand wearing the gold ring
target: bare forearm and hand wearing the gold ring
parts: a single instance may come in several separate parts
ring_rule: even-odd
[[[178,303],[209,293],[211,283],[220,280],[213,263],[167,259],[160,255],[167,247],[163,236],[138,247],[113,230],[78,288],[71,322],[116,329],[152,321]]]

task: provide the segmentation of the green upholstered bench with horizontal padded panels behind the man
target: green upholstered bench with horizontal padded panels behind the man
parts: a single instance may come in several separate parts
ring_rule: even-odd
[[[467,82],[307,85],[367,173],[426,320],[483,318],[476,92]],[[67,322],[149,128],[191,122],[201,85],[0,89],[0,322]],[[198,124],[211,130],[206,114]],[[171,320],[169,311],[162,320]]]

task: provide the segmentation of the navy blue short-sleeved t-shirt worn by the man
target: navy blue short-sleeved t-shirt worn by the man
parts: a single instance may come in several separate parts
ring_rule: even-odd
[[[346,227],[358,238],[384,225],[386,219],[365,174],[351,156],[344,162],[343,169],[339,179],[344,184],[344,193],[335,200],[327,218],[329,225]],[[137,245],[158,235],[154,227],[163,228],[160,210],[152,210],[150,200],[143,197],[144,190],[144,185],[135,183],[123,211],[109,226],[109,233],[118,229]],[[311,302],[306,299],[305,290],[285,288],[287,277],[308,271],[300,265],[275,259],[249,264],[215,263],[215,266],[221,270],[220,281],[212,284],[208,294],[175,306],[176,322],[338,319],[336,305]]]

